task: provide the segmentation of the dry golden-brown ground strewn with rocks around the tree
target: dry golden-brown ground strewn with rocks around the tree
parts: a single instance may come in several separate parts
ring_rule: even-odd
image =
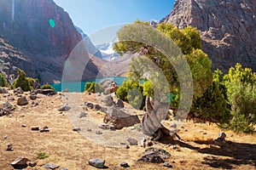
[[[21,95],[26,96],[28,104],[17,105]],[[15,95],[13,90],[9,90],[9,94],[0,94],[2,108],[7,107],[6,102],[12,105],[6,108],[10,112],[8,115],[0,116],[0,169],[14,169],[11,163],[19,157],[23,157],[23,160],[17,161],[18,164],[25,161],[26,169],[84,170],[96,169],[91,165],[101,166],[103,163],[104,168],[124,169],[127,166],[125,162],[129,166],[127,169],[256,167],[256,140],[253,134],[224,131],[225,141],[218,142],[218,133],[222,131],[215,125],[184,122],[178,131],[183,141],[153,141],[152,146],[147,143],[142,147],[140,139],[144,136],[139,132],[138,126],[121,130],[102,129],[99,124],[102,124],[106,113],[97,111],[95,107],[90,109],[87,104],[107,107],[102,102],[103,97],[85,93],[58,93],[52,96],[37,94],[37,99],[32,100],[29,93]],[[87,102],[86,105],[84,102]],[[62,107],[63,111],[60,111],[63,105],[66,107]],[[15,110],[12,111],[11,108]],[[135,111],[127,104],[122,110],[142,118],[143,112]],[[171,124],[171,121],[165,122],[166,127]],[[132,145],[133,143],[137,145]],[[152,147],[157,149],[147,150]],[[145,150],[149,155],[152,152],[163,154],[156,160],[162,158],[167,167],[163,162],[137,161],[145,156]],[[43,157],[45,153],[48,157],[40,159],[39,153]],[[99,160],[91,160],[93,158]],[[121,162],[124,167],[120,166]]]

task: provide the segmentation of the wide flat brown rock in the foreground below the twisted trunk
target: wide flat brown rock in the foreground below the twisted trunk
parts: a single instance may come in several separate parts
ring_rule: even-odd
[[[137,161],[145,161],[151,163],[164,163],[165,159],[169,158],[171,154],[166,150],[159,148],[148,148],[144,152],[144,156],[139,158]]]

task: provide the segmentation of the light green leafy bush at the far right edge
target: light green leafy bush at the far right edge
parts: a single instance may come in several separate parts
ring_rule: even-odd
[[[241,64],[224,75],[228,102],[231,105],[230,129],[250,133],[256,124],[256,74]]]

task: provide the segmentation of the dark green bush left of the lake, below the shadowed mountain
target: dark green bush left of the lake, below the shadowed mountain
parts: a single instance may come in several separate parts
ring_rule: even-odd
[[[26,77],[26,73],[22,71],[21,69],[18,69],[17,71],[18,77],[15,79],[15,82],[13,83],[14,88],[22,88],[23,91],[30,91],[33,88],[33,82],[35,79],[32,77]]]

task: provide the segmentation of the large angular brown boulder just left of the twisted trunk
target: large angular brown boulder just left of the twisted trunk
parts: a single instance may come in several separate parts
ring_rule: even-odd
[[[140,123],[137,115],[130,115],[125,113],[125,111],[120,111],[118,108],[111,107],[105,117],[103,122],[112,123],[116,129],[121,129],[123,127],[131,127],[137,123]]]

